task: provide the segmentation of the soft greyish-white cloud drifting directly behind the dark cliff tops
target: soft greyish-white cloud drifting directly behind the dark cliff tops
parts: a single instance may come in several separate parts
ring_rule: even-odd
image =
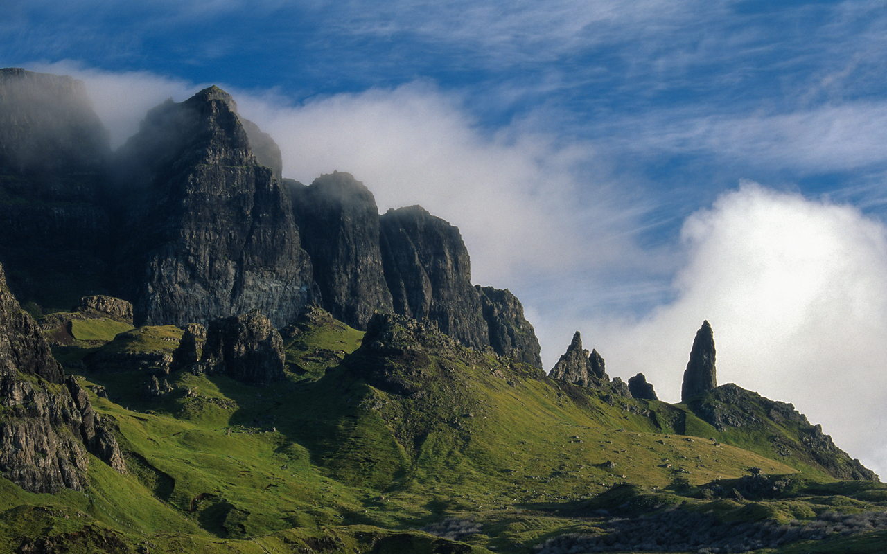
[[[285,176],[307,184],[349,171],[381,211],[420,204],[459,227],[477,283],[512,286],[593,259],[616,264],[633,249],[645,205],[606,183],[580,182],[580,168],[596,157],[590,145],[558,144],[518,124],[490,135],[457,96],[427,82],[295,107],[237,98],[241,113],[280,145]]]

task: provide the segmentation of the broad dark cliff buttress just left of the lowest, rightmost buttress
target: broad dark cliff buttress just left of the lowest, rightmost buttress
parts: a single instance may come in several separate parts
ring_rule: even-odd
[[[380,218],[382,266],[395,312],[436,322],[469,347],[490,345],[459,229],[418,206]]]

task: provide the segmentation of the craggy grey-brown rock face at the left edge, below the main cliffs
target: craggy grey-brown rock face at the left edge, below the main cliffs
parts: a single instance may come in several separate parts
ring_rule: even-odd
[[[114,435],[75,378],[65,378],[0,266],[0,472],[31,492],[82,490],[87,447],[125,472]]]

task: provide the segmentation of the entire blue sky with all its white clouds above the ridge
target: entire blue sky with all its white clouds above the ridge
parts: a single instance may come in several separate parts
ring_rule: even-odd
[[[217,84],[286,176],[459,226],[546,369],[578,329],[676,402],[708,319],[719,382],[887,472],[887,2],[7,4],[0,65],[81,78],[115,144]]]

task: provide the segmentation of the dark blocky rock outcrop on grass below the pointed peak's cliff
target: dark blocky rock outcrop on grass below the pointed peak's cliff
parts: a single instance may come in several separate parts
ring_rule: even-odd
[[[221,373],[251,385],[284,378],[284,348],[280,333],[258,311],[209,323],[200,370]]]

